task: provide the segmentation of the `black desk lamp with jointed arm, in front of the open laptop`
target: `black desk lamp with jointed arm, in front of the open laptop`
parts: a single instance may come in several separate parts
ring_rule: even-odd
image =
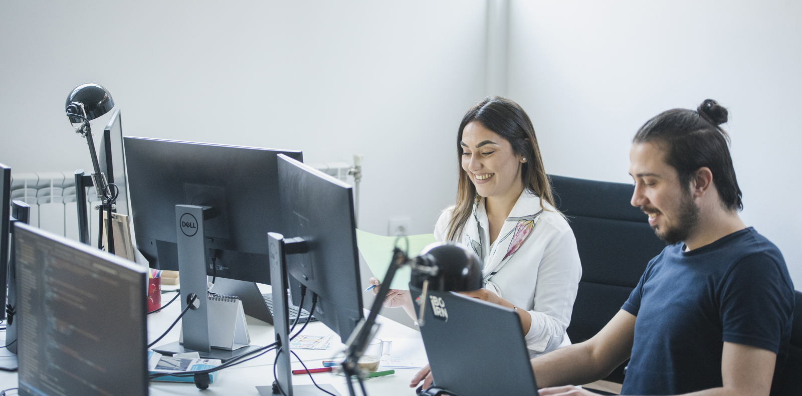
[[[399,240],[404,238],[399,237]],[[423,326],[423,313],[426,309],[426,294],[428,290],[439,292],[470,292],[482,288],[482,265],[481,259],[468,248],[461,244],[435,242],[429,244],[418,257],[407,257],[402,249],[398,247],[396,240],[393,257],[387,274],[384,276],[382,285],[379,286],[379,293],[371,306],[371,313],[367,319],[359,322],[354,333],[351,333],[346,341],[346,359],[342,362],[342,371],[346,374],[348,389],[350,394],[355,396],[351,378],[356,376],[362,392],[365,396],[365,388],[362,386],[363,378],[360,377],[358,370],[358,360],[367,349],[368,343],[373,339],[379,326],[376,325],[376,316],[382,309],[384,297],[390,291],[390,283],[395,277],[395,271],[404,265],[412,268],[410,285],[421,289],[419,297],[419,317],[418,325]]]

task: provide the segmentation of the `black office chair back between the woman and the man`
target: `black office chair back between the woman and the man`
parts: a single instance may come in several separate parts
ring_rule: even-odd
[[[648,216],[630,204],[631,184],[549,176],[555,204],[577,238],[582,279],[567,329],[573,343],[593,337],[638,285],[649,261],[666,243]],[[622,383],[626,362],[606,381]]]

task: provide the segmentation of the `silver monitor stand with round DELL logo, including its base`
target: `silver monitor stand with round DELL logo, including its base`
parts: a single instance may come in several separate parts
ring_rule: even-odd
[[[204,220],[209,220],[209,207],[196,205],[176,205],[176,242],[178,243],[178,273],[181,279],[181,310],[187,308],[190,296],[197,296],[192,307],[181,318],[181,329],[184,332],[184,343],[179,341],[153,348],[154,351],[172,356],[197,352],[201,358],[220,359],[227,362],[251,350],[259,348],[248,345],[238,350],[221,350],[209,344],[209,321],[217,318],[209,317],[208,290],[206,277],[206,253],[204,238]],[[206,217],[204,217],[206,214]]]

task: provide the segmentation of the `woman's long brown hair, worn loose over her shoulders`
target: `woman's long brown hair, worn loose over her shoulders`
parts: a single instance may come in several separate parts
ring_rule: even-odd
[[[471,107],[460,123],[460,131],[456,134],[457,164],[460,168],[460,176],[456,189],[456,205],[452,211],[451,219],[448,221],[448,240],[457,240],[457,236],[462,232],[468,216],[471,216],[473,205],[479,200],[476,194],[476,186],[473,185],[468,172],[462,168],[462,132],[468,123],[481,123],[490,131],[496,132],[512,145],[512,151],[518,156],[524,156],[528,160],[521,164],[520,180],[524,184],[525,191],[531,192],[541,198],[541,208],[547,209],[543,204],[545,200],[551,204],[553,209],[554,198],[549,184],[549,176],[546,176],[541,160],[541,149],[537,145],[535,128],[526,111],[518,106],[518,103],[510,99],[498,96],[489,96],[480,103]]]

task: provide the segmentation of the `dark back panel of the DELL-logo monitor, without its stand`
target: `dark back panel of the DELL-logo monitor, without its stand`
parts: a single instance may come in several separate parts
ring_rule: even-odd
[[[267,232],[284,230],[277,155],[291,150],[126,136],[136,247],[157,269],[178,270],[176,204],[210,207],[209,276],[270,284]],[[214,257],[216,265],[212,265]]]

